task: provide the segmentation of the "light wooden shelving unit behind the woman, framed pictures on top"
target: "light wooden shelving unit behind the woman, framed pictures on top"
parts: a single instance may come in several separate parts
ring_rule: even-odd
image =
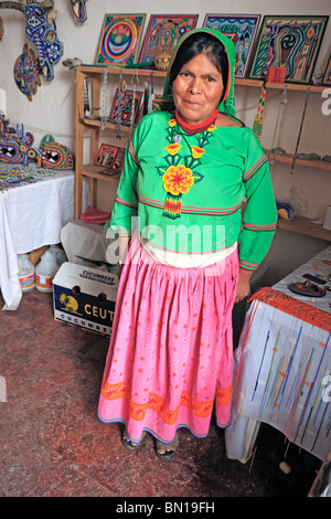
[[[107,66],[107,74],[109,75],[109,83],[111,81],[118,81],[119,73],[122,72],[124,76],[132,76],[137,71],[139,77],[149,77],[151,74],[153,77],[164,78],[166,72],[156,71],[153,68],[121,68],[118,66]],[[83,192],[83,179],[88,178],[89,181],[89,206],[96,206],[96,188],[97,181],[118,183],[120,173],[107,176],[103,172],[100,167],[94,165],[94,159],[97,156],[100,137],[102,137],[102,120],[100,120],[100,93],[104,78],[105,66],[104,65],[79,65],[76,70],[76,174],[75,174],[75,219],[78,219],[82,213],[82,192]],[[114,78],[111,80],[111,75]],[[97,116],[98,119],[89,119],[84,117],[84,78],[93,78],[93,92],[92,92],[92,106],[95,107],[96,112],[99,110]],[[259,80],[235,80],[235,86],[245,86],[261,88],[264,82]],[[322,93],[323,86],[316,85],[298,85],[291,83],[266,83],[267,89],[284,89],[287,86],[288,91],[295,92],[307,92],[308,88],[312,93]],[[106,123],[105,129],[115,129],[115,124]],[[86,131],[90,133],[90,145],[89,145],[89,161],[83,163],[84,157],[84,135]],[[129,127],[121,126],[121,131],[128,134]],[[270,160],[277,162],[292,163],[293,156],[291,155],[276,155],[267,151]],[[331,171],[331,162],[323,160],[302,160],[296,158],[296,166],[317,168]],[[278,226],[290,232],[299,234],[310,235],[320,237],[322,240],[331,241],[331,231],[327,231],[320,225],[312,224],[308,219],[302,216],[296,216],[293,221],[281,220],[278,221]]]

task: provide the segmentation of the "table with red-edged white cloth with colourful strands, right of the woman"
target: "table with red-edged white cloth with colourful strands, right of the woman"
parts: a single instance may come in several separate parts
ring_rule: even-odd
[[[328,277],[331,247],[252,297],[234,356],[228,458],[250,458],[261,423],[322,460],[331,448],[331,292],[290,292],[305,273]]]

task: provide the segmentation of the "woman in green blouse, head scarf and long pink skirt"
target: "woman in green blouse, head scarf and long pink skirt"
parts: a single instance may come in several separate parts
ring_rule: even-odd
[[[220,32],[182,38],[128,144],[110,220],[125,266],[98,415],[125,424],[130,449],[152,434],[162,459],[178,428],[207,435],[214,406],[217,425],[229,423],[232,309],[276,226],[267,159],[233,116],[234,65]]]

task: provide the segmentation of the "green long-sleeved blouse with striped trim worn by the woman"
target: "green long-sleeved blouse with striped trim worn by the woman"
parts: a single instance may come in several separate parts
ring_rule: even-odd
[[[128,142],[106,227],[130,235],[135,223],[143,240],[178,253],[212,253],[237,242],[241,267],[255,269],[276,222],[267,157],[250,128],[211,125],[189,136],[172,114],[157,112]]]

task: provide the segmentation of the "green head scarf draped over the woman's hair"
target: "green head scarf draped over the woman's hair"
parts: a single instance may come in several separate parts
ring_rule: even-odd
[[[226,92],[225,95],[222,99],[222,102],[218,104],[218,112],[223,112],[225,114],[229,115],[235,115],[235,97],[234,97],[234,71],[235,71],[235,59],[236,59],[236,50],[235,45],[229,38],[227,38],[225,34],[223,34],[220,31],[215,31],[213,29],[209,28],[201,28],[201,29],[193,29],[192,31],[188,32],[186,34],[183,35],[183,38],[179,41],[177,47],[174,49],[169,65],[168,65],[168,71],[167,71],[167,76],[164,81],[164,88],[163,88],[163,95],[161,96],[156,96],[153,100],[153,109],[154,112],[160,112],[160,110],[169,110],[171,107],[173,107],[173,97],[172,97],[172,87],[169,85],[169,73],[171,71],[172,64],[174,62],[175,55],[183,43],[183,41],[186,40],[186,38],[191,36],[192,34],[199,33],[199,32],[206,32],[207,34],[212,34],[215,36],[220,42],[223,43],[227,60],[228,60],[228,77],[227,77],[227,85],[226,85]]]

